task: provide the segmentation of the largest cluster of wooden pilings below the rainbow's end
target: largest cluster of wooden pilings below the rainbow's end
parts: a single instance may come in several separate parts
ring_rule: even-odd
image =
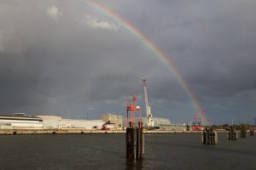
[[[218,133],[212,129],[212,127],[206,127],[202,132],[203,144],[218,144]]]

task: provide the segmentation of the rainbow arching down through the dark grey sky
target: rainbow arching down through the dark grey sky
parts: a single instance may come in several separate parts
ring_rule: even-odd
[[[143,32],[139,31],[136,26],[133,26],[130,22],[119,16],[119,14],[114,13],[110,8],[104,6],[102,3],[98,3],[95,0],[87,0],[93,8],[99,11],[102,14],[106,14],[109,18],[119,23],[120,26],[123,26],[127,31],[131,32],[135,37],[137,37],[143,44],[148,47],[148,49],[161,60],[161,62],[167,66],[167,68],[172,71],[172,74],[177,78],[177,82],[184,89],[186,94],[189,96],[193,106],[195,107],[195,111],[201,115],[201,122],[206,124],[207,120],[203,110],[201,109],[201,103],[198,99],[195,98],[195,94],[193,94],[192,90],[189,88],[189,84],[185,82],[182,75],[178,72],[177,67],[173,64],[171,59],[168,59],[166,54],[164,54],[161,49],[151,42],[148,37],[146,37]]]

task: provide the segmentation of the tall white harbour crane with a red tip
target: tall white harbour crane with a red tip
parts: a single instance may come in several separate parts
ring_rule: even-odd
[[[148,103],[148,92],[147,92],[147,82],[146,78],[143,78],[143,89],[144,89],[144,99],[146,105],[146,113],[147,113],[147,126],[154,127],[154,120],[152,119],[152,113],[150,109],[150,105]]]

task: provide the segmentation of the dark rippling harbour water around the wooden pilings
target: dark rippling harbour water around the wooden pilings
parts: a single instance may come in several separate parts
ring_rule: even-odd
[[[145,156],[125,160],[125,134],[3,135],[1,169],[255,169],[256,137],[201,144],[200,133],[145,134]],[[206,167],[207,166],[207,167]]]

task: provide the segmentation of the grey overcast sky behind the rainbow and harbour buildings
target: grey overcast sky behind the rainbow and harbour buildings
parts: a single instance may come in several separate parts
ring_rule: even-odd
[[[256,117],[256,1],[98,1],[177,66],[210,122]],[[86,0],[0,0],[0,113],[125,116],[148,80],[153,116],[189,122],[191,100],[137,37]],[[145,115],[145,111],[143,110]]]

